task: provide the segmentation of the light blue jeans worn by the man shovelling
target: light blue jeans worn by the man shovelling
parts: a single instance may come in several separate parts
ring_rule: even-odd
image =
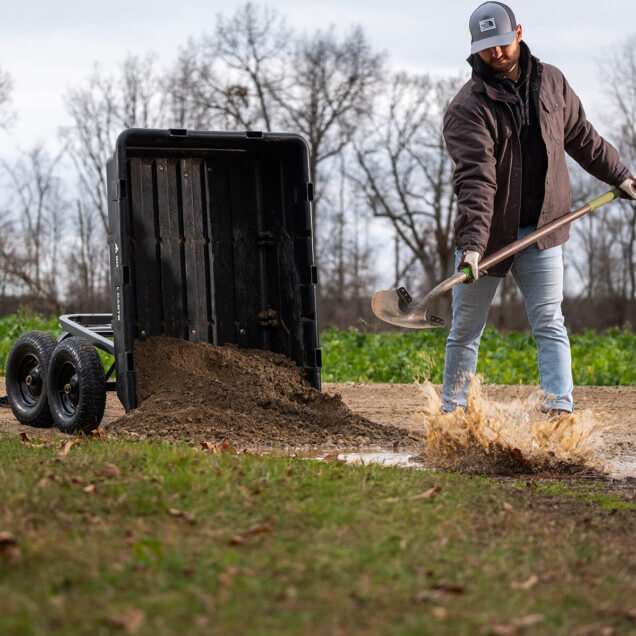
[[[519,229],[519,237],[534,227]],[[455,266],[461,253],[456,253]],[[544,406],[572,411],[572,358],[563,322],[563,249],[540,250],[536,244],[516,255],[512,276],[523,295],[532,335],[537,343]],[[479,341],[490,304],[499,286],[498,277],[484,276],[476,283],[453,288],[453,323],[446,341],[442,410],[466,406],[466,396],[477,368]],[[505,364],[505,362],[503,363]]]

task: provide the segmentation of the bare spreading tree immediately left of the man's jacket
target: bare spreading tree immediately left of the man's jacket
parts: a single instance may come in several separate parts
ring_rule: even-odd
[[[442,117],[460,81],[394,75],[373,127],[356,141],[358,184],[408,251],[396,275],[419,264],[429,284],[448,276],[454,264],[453,163]]]

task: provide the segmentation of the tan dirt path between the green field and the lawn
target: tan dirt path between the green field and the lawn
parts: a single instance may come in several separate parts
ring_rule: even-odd
[[[537,387],[486,385],[483,390],[490,399],[506,401],[525,398]],[[417,385],[325,383],[323,391],[339,394],[354,413],[378,424],[408,430],[423,428],[426,401]],[[4,378],[0,377],[0,395],[4,394]],[[577,409],[593,411],[603,424],[603,456],[610,474],[636,479],[636,387],[575,387],[574,400]],[[109,393],[103,425],[108,428],[123,414],[117,396]],[[41,431],[20,425],[9,408],[0,408],[0,433],[20,432]]]

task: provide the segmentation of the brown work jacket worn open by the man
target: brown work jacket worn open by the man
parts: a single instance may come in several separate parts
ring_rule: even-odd
[[[541,136],[547,151],[545,198],[538,227],[570,211],[570,180],[565,152],[585,170],[612,186],[629,177],[618,152],[590,124],[563,73],[538,60]],[[534,96],[536,100],[537,96]],[[517,238],[521,204],[521,144],[513,114],[515,97],[483,81],[475,72],[450,103],[444,139],[455,162],[457,196],[455,243],[461,251],[491,254]],[[538,242],[539,249],[561,245],[569,226]],[[504,276],[513,259],[489,274]]]

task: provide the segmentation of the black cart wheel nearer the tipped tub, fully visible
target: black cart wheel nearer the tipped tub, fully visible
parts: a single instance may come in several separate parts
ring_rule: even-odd
[[[83,338],[66,338],[49,364],[49,405],[63,433],[96,429],[106,406],[106,377],[99,355]]]

